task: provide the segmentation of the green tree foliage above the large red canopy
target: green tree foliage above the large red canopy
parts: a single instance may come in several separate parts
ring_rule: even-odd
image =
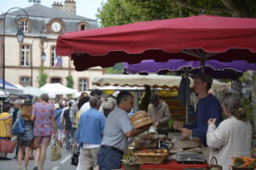
[[[201,14],[256,17],[254,0],[108,0],[98,9],[103,27]]]

